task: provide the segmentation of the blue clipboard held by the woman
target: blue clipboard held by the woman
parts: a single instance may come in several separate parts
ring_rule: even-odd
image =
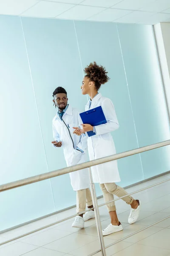
[[[83,124],[97,126],[107,123],[101,106],[80,113],[80,117],[82,119]],[[96,134],[93,131],[88,131],[87,133],[88,137],[91,137]]]

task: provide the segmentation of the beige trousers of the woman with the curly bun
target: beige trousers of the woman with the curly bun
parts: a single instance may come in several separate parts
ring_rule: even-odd
[[[102,189],[105,202],[113,200],[114,199],[113,195],[117,195],[118,197],[128,195],[125,189],[117,186],[115,183],[105,183],[105,184],[99,184],[99,185],[100,185],[100,188]],[[122,200],[125,201],[127,204],[132,204],[134,199],[130,195],[128,195],[122,198]],[[109,212],[116,211],[115,202],[107,204],[107,208]]]

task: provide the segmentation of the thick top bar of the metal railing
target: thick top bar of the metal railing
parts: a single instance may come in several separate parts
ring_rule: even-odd
[[[56,170],[56,171],[46,172],[44,174],[36,175],[36,176],[33,176],[33,177],[28,177],[26,179],[6,183],[6,184],[3,184],[3,185],[0,186],[0,192],[6,191],[8,189],[14,189],[14,188],[17,188],[17,187],[20,187],[20,186],[25,186],[25,185],[35,183],[35,182],[38,182],[38,181],[41,181],[41,180],[47,180],[47,179],[57,177],[57,176],[60,176],[60,175],[63,175],[63,174],[69,173],[69,172],[75,172],[75,171],[78,171],[78,170],[81,170],[81,169],[89,168],[91,166],[99,165],[101,163],[107,163],[107,162],[111,162],[113,160],[117,160],[117,159],[120,159],[120,158],[129,157],[131,155],[139,154],[139,153],[149,151],[149,150],[152,150],[152,149],[155,149],[155,148],[161,148],[161,147],[164,147],[166,145],[170,145],[170,140],[166,140],[166,141],[163,141],[163,142],[160,142],[160,143],[144,146],[142,148],[136,148],[136,149],[133,149],[133,150],[130,150],[130,151],[125,151],[125,152],[118,153],[118,154],[113,154],[113,155],[108,156],[108,157],[102,157],[102,158],[92,160],[92,161],[88,161],[88,162],[85,162],[85,163],[80,163],[80,164],[77,164],[76,166],[70,166],[70,167],[62,168],[62,169],[59,169],[59,170]]]

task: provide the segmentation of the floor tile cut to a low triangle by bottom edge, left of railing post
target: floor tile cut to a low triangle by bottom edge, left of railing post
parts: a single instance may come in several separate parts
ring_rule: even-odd
[[[24,256],[65,256],[65,253],[60,253],[54,250],[40,247],[35,250],[32,250],[29,253],[25,253]]]

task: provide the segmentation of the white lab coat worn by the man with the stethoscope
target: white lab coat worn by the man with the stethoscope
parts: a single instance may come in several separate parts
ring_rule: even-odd
[[[86,136],[77,136],[73,134],[73,127],[80,126],[82,120],[79,116],[79,111],[76,108],[71,108],[68,105],[67,110],[62,116],[64,122],[60,119],[59,115],[53,119],[53,137],[54,140],[62,141],[62,148],[64,151],[64,157],[67,166],[73,166],[79,163],[84,163],[87,160],[87,137]],[[66,125],[67,127],[66,127]],[[71,134],[69,134],[69,131]],[[72,140],[71,140],[72,138]],[[74,143],[74,147],[73,147]],[[80,148],[84,153],[76,150],[75,148]],[[57,147],[55,147],[57,148]],[[87,189],[89,188],[90,180],[88,175],[88,169],[79,170],[76,172],[69,173],[71,179],[71,185],[74,191]]]

